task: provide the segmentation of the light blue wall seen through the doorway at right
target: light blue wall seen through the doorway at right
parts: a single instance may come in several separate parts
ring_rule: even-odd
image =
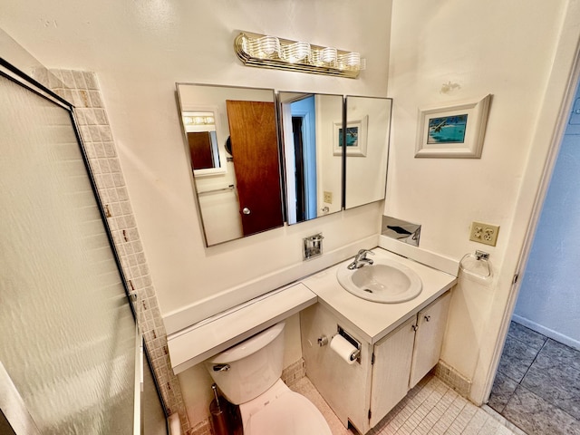
[[[575,92],[575,108],[580,87]],[[526,273],[515,320],[580,349],[580,115],[566,127]]]

